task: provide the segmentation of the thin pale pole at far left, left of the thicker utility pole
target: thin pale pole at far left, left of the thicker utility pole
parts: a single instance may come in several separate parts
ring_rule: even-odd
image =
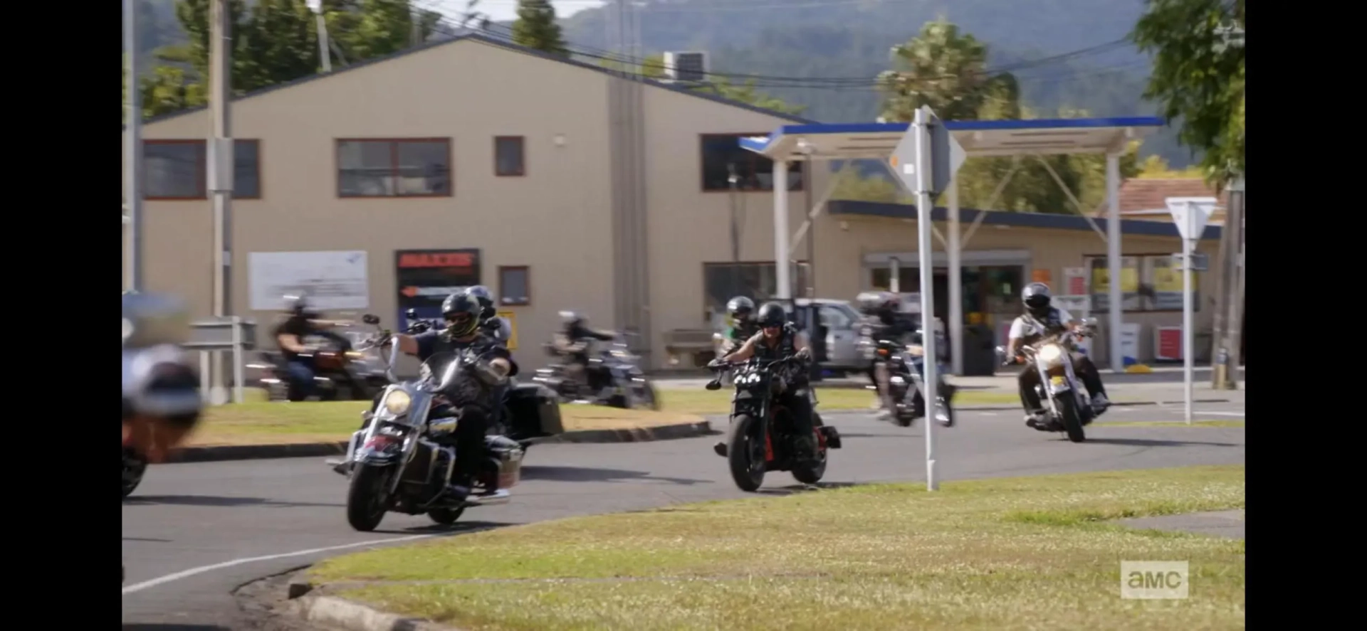
[[[138,85],[138,3],[123,0],[123,51],[128,56],[128,104],[124,116],[127,137],[123,141],[123,213],[127,219],[126,290],[142,287],[142,94]]]

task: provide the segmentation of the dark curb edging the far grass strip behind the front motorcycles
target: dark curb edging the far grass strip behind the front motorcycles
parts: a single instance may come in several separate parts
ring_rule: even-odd
[[[707,421],[694,423],[662,425],[659,427],[630,427],[630,429],[586,429],[580,432],[566,432],[545,438],[533,438],[533,444],[541,443],[645,443],[652,440],[692,438],[694,436],[712,434],[712,425]],[[223,445],[223,447],[186,447],[176,449],[167,458],[168,463],[197,463],[221,460],[265,460],[276,458],[313,458],[313,456],[340,456],[346,453],[346,441],[336,443],[295,443],[280,445]]]

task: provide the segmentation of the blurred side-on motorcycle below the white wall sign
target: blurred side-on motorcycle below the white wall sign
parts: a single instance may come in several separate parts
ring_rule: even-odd
[[[309,336],[308,343],[316,348],[313,384],[319,400],[369,400],[387,384],[381,362],[373,352],[373,340],[351,348],[323,336]],[[246,367],[260,371],[257,382],[265,388],[269,400],[287,400],[290,382],[284,355],[278,351],[262,351],[261,359]]]

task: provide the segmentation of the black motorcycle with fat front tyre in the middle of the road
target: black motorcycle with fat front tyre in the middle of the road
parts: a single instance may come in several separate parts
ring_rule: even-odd
[[[775,402],[776,395],[787,388],[787,382],[775,369],[791,358],[776,361],[750,359],[740,366],[722,366],[731,370],[735,396],[731,399],[731,422],[725,443],[714,447],[716,455],[726,458],[735,486],[755,492],[764,483],[767,471],[790,471],[801,483],[815,485],[826,475],[828,449],[841,448],[841,434],[835,427],[822,423],[813,400],[812,427],[816,433],[816,460],[798,462],[793,458],[793,425],[787,408]],[[707,389],[720,389],[720,376],[707,384]]]

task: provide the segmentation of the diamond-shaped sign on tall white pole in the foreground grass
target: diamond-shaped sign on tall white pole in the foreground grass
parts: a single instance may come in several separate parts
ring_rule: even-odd
[[[916,254],[920,260],[921,276],[921,363],[925,366],[925,489],[938,490],[935,475],[935,423],[939,410],[939,351],[935,348],[935,261],[931,257],[931,212],[935,197],[949,187],[954,172],[964,164],[968,153],[950,135],[945,123],[930,107],[921,105],[916,117],[906,128],[906,135],[897,142],[887,163],[902,180],[908,191],[916,194]],[[895,275],[895,272],[894,272]],[[895,276],[894,276],[895,279]]]

